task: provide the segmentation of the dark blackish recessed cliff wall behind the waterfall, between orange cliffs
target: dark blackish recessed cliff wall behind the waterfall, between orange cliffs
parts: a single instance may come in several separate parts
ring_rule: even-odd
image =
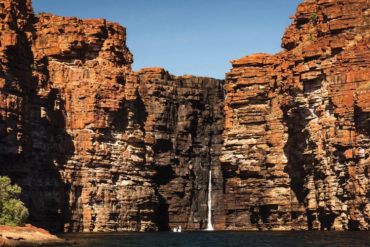
[[[206,228],[209,169],[213,224],[223,229],[223,80],[174,77],[162,68],[142,69],[138,75],[147,109],[146,143],[156,171],[159,230],[179,223],[185,229]]]

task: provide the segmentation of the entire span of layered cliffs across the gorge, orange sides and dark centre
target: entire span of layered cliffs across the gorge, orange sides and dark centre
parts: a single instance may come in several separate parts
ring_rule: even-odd
[[[369,230],[370,1],[304,1],[291,18],[282,52],[217,80],[134,72],[117,23],[0,0],[0,175],[30,222]]]

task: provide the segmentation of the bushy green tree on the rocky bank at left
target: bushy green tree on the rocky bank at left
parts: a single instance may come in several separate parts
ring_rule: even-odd
[[[21,187],[11,185],[10,178],[0,176],[0,225],[23,226],[28,209],[18,199]]]

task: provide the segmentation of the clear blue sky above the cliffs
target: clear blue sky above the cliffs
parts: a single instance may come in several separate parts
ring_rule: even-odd
[[[303,0],[33,0],[35,12],[105,18],[127,28],[134,71],[223,79],[229,61],[277,53]]]

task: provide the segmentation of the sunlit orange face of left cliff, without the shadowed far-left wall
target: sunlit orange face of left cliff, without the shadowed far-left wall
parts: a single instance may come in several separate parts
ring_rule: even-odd
[[[55,195],[63,201],[53,206],[61,218],[58,224],[73,231],[157,229],[145,108],[130,76],[125,29],[104,19],[38,18],[34,76],[37,95],[45,99],[38,102],[41,119],[42,111],[46,117],[45,124],[35,123],[35,138],[43,138],[41,146],[47,139],[55,141],[56,152],[63,154],[56,160],[50,150],[42,150],[63,188]],[[60,124],[63,137],[62,131],[44,128],[53,121]]]

